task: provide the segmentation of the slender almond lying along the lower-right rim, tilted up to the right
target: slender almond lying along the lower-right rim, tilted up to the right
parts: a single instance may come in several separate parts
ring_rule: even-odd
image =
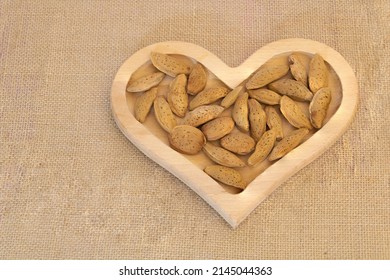
[[[309,130],[307,128],[299,128],[290,132],[275,145],[268,157],[268,160],[274,161],[284,157],[286,154],[295,149],[299,144],[301,144],[308,133]]]

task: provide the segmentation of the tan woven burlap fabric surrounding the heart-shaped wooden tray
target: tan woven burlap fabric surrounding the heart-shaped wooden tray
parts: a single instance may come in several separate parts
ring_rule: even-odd
[[[389,259],[390,2],[0,1],[1,259]],[[110,88],[152,43],[231,66],[284,38],[355,71],[348,131],[235,230],[120,132]]]

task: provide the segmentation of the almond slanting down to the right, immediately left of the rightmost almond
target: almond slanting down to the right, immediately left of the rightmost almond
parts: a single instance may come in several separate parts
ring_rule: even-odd
[[[298,104],[288,96],[283,96],[280,99],[280,111],[292,126],[296,128],[305,127],[307,129],[312,129],[309,118],[301,110]]]

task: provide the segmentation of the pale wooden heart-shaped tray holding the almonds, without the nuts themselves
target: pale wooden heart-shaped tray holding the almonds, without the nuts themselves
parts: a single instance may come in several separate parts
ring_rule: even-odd
[[[200,62],[216,80],[231,89],[253,74],[273,57],[292,52],[309,55],[319,53],[333,71],[333,86],[339,91],[332,116],[310,138],[273,163],[260,165],[249,171],[250,183],[237,193],[204,171],[204,155],[188,156],[169,146],[167,135],[153,120],[144,124],[133,115],[134,98],[126,93],[129,78],[148,69],[151,52],[185,56]],[[333,97],[332,97],[333,100]],[[211,205],[233,228],[237,227],[279,185],[300,169],[318,158],[348,128],[358,104],[358,86],[353,70],[334,49],[320,42],[292,38],[270,43],[238,67],[229,67],[206,49],[186,42],[168,41],[147,46],[128,58],[119,68],[111,91],[111,108],[115,121],[123,134],[146,156],[171,172]],[[251,173],[252,172],[252,173]]]

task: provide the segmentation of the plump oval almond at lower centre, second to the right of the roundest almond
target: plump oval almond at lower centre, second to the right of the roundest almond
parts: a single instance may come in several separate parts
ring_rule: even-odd
[[[256,142],[248,134],[240,131],[234,131],[224,136],[220,140],[220,144],[223,148],[238,154],[247,155],[253,151]]]

